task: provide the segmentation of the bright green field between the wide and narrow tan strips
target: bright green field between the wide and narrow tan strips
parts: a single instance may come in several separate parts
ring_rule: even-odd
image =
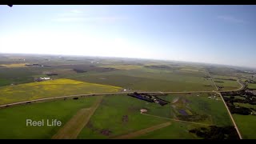
[[[143,103],[145,101],[126,95],[106,96],[78,138],[114,138],[168,122],[163,118],[140,114]],[[123,120],[125,116],[127,119]],[[104,130],[110,131],[110,134],[102,134]]]

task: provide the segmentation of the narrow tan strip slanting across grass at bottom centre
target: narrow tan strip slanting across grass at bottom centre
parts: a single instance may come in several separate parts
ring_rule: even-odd
[[[121,135],[121,136],[118,136],[118,137],[115,137],[115,138],[112,138],[112,139],[134,138],[134,137],[138,137],[140,135],[146,134],[146,133],[150,133],[151,131],[154,131],[154,130],[162,129],[163,127],[170,126],[170,125],[171,125],[171,122],[166,122],[166,123],[162,123],[160,125],[151,126],[149,128],[143,129],[143,130],[138,130],[138,131],[135,131],[135,132],[130,133],[130,134]]]

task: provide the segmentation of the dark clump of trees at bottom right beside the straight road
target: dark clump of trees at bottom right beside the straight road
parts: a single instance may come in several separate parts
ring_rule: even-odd
[[[201,127],[190,130],[190,133],[194,133],[198,137],[205,139],[239,139],[234,126],[210,126],[210,128]]]

